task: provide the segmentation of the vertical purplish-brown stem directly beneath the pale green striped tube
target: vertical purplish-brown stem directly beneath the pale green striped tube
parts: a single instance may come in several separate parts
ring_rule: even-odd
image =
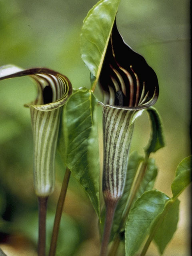
[[[48,200],[48,196],[38,197],[38,203],[39,203],[38,256],[45,256],[47,200]]]

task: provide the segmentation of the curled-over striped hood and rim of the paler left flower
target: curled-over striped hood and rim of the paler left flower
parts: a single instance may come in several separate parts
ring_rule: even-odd
[[[41,111],[50,111],[63,106],[70,94],[72,94],[72,85],[68,78],[54,70],[48,68],[30,68],[23,70],[13,65],[6,65],[0,68],[0,80],[21,76],[31,77],[38,87],[36,100],[32,101],[30,104],[25,104],[25,106],[32,106]],[[52,90],[52,102],[43,104],[43,91],[47,86],[50,86]]]

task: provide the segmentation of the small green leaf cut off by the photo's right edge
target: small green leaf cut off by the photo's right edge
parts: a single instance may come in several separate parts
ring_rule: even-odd
[[[191,181],[192,156],[184,158],[176,169],[176,177],[171,184],[173,198],[178,197]]]

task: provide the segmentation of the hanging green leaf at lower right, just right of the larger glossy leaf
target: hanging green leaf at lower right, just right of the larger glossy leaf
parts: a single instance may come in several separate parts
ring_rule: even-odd
[[[177,229],[177,223],[179,220],[179,204],[177,199],[171,202],[170,207],[166,204],[163,212],[162,222],[158,225],[156,233],[154,235],[154,241],[157,244],[160,254],[163,254],[168,242],[172,239],[174,232]]]

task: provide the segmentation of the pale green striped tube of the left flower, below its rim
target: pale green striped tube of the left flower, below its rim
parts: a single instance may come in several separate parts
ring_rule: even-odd
[[[34,187],[38,196],[48,196],[54,190],[55,153],[61,108],[36,110],[30,106],[34,140]]]

